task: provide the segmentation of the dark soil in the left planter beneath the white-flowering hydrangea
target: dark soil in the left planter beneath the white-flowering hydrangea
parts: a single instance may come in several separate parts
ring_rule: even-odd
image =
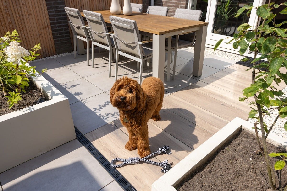
[[[19,104],[14,104],[13,107],[9,109],[9,105],[7,104],[8,98],[4,97],[3,92],[0,92],[0,115],[35,105],[40,98],[46,100],[41,91],[30,82],[30,87],[26,89],[26,93],[22,92],[22,100],[19,101]]]

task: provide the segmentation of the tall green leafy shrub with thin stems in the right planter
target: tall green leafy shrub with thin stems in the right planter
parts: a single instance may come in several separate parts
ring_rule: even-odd
[[[252,70],[252,84],[243,90],[243,98],[239,98],[239,101],[249,101],[249,97],[254,97],[255,102],[249,101],[252,109],[249,113],[249,118],[256,119],[254,123],[254,131],[257,135],[257,142],[260,152],[264,155],[266,161],[266,169],[268,173],[268,182],[272,190],[276,190],[276,181],[274,170],[271,168],[269,157],[280,157],[275,165],[274,169],[281,170],[285,166],[287,153],[269,153],[266,145],[266,138],[269,132],[272,130],[278,118],[287,117],[287,98],[281,90],[274,87],[274,84],[279,85],[281,81],[284,81],[287,85],[287,29],[281,28],[287,21],[282,23],[275,23],[276,14],[272,10],[283,6],[284,8],[279,14],[287,14],[287,1],[281,4],[271,3],[259,7],[253,7],[244,5],[244,7],[238,10],[235,17],[240,16],[245,10],[247,15],[252,9],[256,9],[258,22],[256,26],[250,26],[248,23],[241,24],[237,31],[233,35],[233,38],[226,44],[233,42],[233,48],[239,49],[239,53],[243,55],[247,49],[254,52],[254,58],[251,61],[253,67],[248,70]],[[219,40],[215,47],[222,43],[224,39]],[[248,58],[243,59],[246,61]],[[267,62],[256,64],[257,61],[267,59]],[[267,68],[266,70],[255,70],[255,68]],[[280,68],[282,68],[280,70]],[[286,72],[286,73],[284,73]],[[263,117],[270,115],[273,111],[278,110],[279,114],[276,115],[274,123],[267,127]],[[287,122],[284,124],[285,130],[287,130]],[[262,141],[259,140],[258,133],[262,135]],[[277,184],[278,185],[278,184]],[[287,187],[279,190],[287,190]]]

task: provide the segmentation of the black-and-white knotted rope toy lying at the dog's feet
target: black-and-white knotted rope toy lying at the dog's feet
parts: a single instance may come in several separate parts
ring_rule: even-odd
[[[154,162],[152,160],[148,160],[148,158],[156,155],[156,154],[161,154],[161,153],[165,153],[165,154],[168,154],[170,155],[171,154],[171,151],[169,149],[168,146],[164,146],[162,148],[158,148],[158,151],[155,151],[153,153],[151,153],[150,155],[146,156],[146,157],[143,157],[143,158],[139,158],[139,157],[129,157],[128,159],[122,159],[122,158],[114,158],[111,162],[110,162],[110,166],[112,166],[113,168],[120,168],[120,167],[123,167],[125,165],[132,165],[132,164],[139,164],[139,162],[145,162],[145,163],[148,163],[148,164],[153,164],[153,165],[156,165],[156,166],[160,166],[162,167],[162,170],[161,172],[163,173],[166,173],[168,170],[170,170],[172,167],[171,165],[173,163],[168,163],[168,160],[164,160],[164,162]],[[123,163],[121,164],[114,164],[114,162],[118,162],[118,161],[121,161]]]

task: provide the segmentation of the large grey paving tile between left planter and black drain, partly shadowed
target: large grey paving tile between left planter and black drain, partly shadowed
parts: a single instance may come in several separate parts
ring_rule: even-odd
[[[100,190],[114,179],[77,139],[0,174],[5,191]]]

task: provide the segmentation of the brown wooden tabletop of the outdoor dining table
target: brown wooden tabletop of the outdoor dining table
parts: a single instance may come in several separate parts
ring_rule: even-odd
[[[112,15],[110,13],[110,10],[101,10],[94,12],[101,13],[105,22],[110,23],[109,16]],[[84,14],[83,13],[81,14],[84,17]],[[137,27],[140,31],[156,35],[162,35],[173,31],[179,31],[208,25],[207,22],[202,21],[193,21],[187,19],[179,19],[174,17],[165,17],[160,15],[152,15],[152,14],[136,13],[136,12],[133,12],[132,15],[124,15],[123,12],[121,12],[120,15],[114,15],[114,16],[135,20],[137,22]]]

